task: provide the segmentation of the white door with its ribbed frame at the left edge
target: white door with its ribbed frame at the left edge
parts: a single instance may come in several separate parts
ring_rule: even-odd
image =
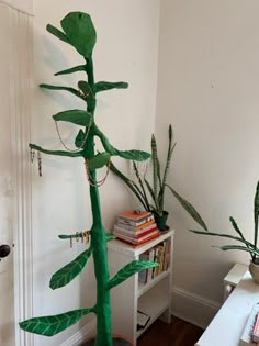
[[[18,327],[19,320],[31,313],[27,310],[32,302],[27,163],[33,49],[31,22],[31,16],[24,12],[0,2],[1,346],[32,345]]]

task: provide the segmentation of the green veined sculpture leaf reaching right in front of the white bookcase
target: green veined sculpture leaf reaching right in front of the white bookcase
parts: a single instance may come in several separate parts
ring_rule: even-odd
[[[132,275],[140,271],[145,268],[150,267],[157,267],[158,264],[153,260],[133,260],[125,267],[123,267],[121,270],[117,271],[117,274],[108,282],[108,289],[112,289],[113,287],[122,283],[127,278],[130,278]]]

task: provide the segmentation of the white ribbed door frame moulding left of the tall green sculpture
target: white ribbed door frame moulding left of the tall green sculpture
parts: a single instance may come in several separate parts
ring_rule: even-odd
[[[15,346],[33,346],[33,334],[19,327],[19,322],[33,315],[33,234],[32,178],[29,143],[33,103],[33,0],[0,0],[11,10],[18,41],[11,44],[9,88],[13,153],[13,278]],[[16,10],[16,11],[15,11]],[[26,47],[26,48],[25,48]]]

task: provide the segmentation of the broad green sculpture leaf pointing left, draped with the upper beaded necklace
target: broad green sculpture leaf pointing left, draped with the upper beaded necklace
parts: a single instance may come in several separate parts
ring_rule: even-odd
[[[79,126],[89,126],[92,114],[83,110],[69,110],[53,115],[55,121],[66,121]]]

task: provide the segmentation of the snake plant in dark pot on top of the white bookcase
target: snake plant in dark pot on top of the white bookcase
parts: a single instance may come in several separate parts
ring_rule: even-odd
[[[140,175],[139,169],[135,161],[133,161],[133,169],[136,177],[136,181],[127,178],[121,170],[119,170],[113,163],[110,163],[111,170],[123,180],[123,182],[132,190],[132,192],[136,196],[143,208],[147,211],[151,211],[154,213],[157,227],[160,231],[165,231],[168,228],[166,225],[168,211],[165,210],[165,192],[166,189],[169,189],[174,198],[180,202],[180,204],[187,210],[187,212],[202,226],[205,224],[193,205],[188,202],[184,198],[182,198],[170,185],[167,183],[168,171],[171,164],[171,157],[173,149],[176,147],[176,143],[173,143],[172,138],[172,126],[171,124],[168,127],[168,149],[167,157],[165,163],[164,171],[161,170],[160,160],[158,158],[157,153],[157,141],[155,135],[151,135],[151,174],[153,174],[153,182],[150,183],[146,178],[146,174],[144,176]]]

